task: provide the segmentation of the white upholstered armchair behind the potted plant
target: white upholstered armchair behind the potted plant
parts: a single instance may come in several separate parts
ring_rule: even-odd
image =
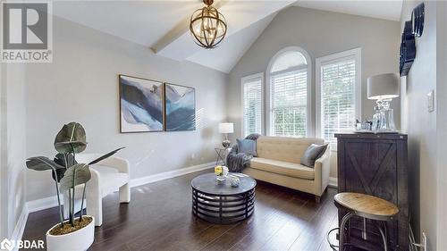
[[[80,154],[76,155],[76,161],[78,163],[89,163],[100,156],[97,154]],[[131,201],[131,188],[129,187],[131,179],[130,169],[127,160],[115,156],[90,165],[91,180],[87,182],[86,188],[87,214],[95,217],[95,226],[103,224],[103,197],[119,190],[120,203],[129,203]],[[76,186],[76,212],[80,211],[83,186]],[[69,209],[65,205],[69,205],[68,193],[63,194],[63,216],[67,219]]]

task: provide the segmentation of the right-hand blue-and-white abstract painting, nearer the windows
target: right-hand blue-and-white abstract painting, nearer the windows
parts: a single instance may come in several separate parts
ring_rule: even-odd
[[[196,130],[196,91],[173,84],[164,84],[165,129]]]

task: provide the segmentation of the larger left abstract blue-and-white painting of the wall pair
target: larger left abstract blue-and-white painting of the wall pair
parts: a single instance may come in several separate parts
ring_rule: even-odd
[[[163,131],[163,83],[120,75],[121,132]]]

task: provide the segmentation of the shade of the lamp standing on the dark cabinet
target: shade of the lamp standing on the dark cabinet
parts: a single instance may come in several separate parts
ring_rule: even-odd
[[[396,73],[375,75],[367,79],[368,99],[392,99],[399,94],[399,76]]]

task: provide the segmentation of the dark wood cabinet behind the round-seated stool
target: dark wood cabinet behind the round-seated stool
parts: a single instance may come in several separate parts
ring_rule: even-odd
[[[407,135],[336,134],[338,191],[384,198],[399,207],[397,221],[386,222],[390,250],[409,250]],[[346,212],[339,209],[339,224]],[[363,222],[353,218],[350,242],[367,250],[383,250],[375,222],[367,221],[367,240],[361,238]]]

